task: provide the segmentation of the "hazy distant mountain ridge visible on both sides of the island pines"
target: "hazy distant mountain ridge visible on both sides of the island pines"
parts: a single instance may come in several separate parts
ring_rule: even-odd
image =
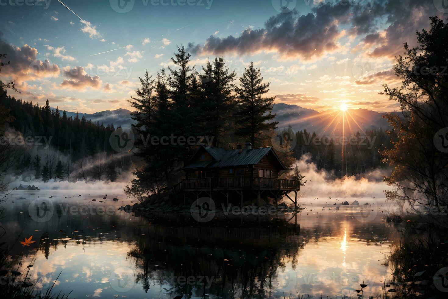
[[[59,111],[62,115],[62,111]],[[66,112],[68,117],[75,117],[75,112]],[[131,111],[120,108],[116,110],[105,110],[96,113],[79,113],[79,118],[83,116],[87,120],[99,121],[105,126],[113,123],[115,127],[121,126],[129,128],[134,122],[130,117]],[[278,127],[291,126],[293,130],[308,130],[319,132],[328,132],[328,130],[340,132],[342,131],[341,115],[343,114],[337,110],[326,110],[318,112],[313,109],[303,108],[294,104],[276,103],[272,109],[272,113],[276,113],[275,121],[278,121]],[[361,131],[382,128],[387,129],[388,123],[383,115],[386,113],[379,113],[368,109],[348,109],[345,113],[345,123],[347,128],[345,130]],[[339,120],[339,122],[338,122]],[[329,127],[328,124],[332,123]],[[349,125],[347,125],[349,124]],[[335,128],[336,125],[336,128]],[[351,127],[350,127],[351,126]],[[354,127],[353,127],[354,126]],[[331,133],[331,132],[330,132]]]

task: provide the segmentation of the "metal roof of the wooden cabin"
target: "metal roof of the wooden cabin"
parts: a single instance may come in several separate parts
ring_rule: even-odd
[[[195,168],[218,168],[218,167],[235,167],[235,166],[245,166],[245,165],[254,165],[260,162],[264,156],[266,156],[269,152],[272,152],[273,155],[278,160],[280,166],[283,169],[286,169],[276,155],[276,153],[272,150],[272,147],[255,147],[251,149],[243,148],[243,149],[235,149],[235,150],[226,150],[221,147],[203,147],[215,160],[208,161],[195,161],[193,163],[187,163],[184,169],[195,169]],[[201,148],[199,147],[199,149]],[[198,150],[199,150],[198,149]],[[194,156],[196,153],[194,154]]]

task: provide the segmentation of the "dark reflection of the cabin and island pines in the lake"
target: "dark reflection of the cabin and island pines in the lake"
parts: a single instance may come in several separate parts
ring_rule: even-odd
[[[242,224],[240,219],[219,226],[151,225],[149,236],[138,238],[128,253],[138,265],[138,282],[145,291],[151,283],[168,283],[172,298],[274,295],[277,270],[287,262],[295,269],[299,248],[306,243],[299,237],[299,226],[288,223],[290,217]],[[190,277],[194,283],[178,277]]]

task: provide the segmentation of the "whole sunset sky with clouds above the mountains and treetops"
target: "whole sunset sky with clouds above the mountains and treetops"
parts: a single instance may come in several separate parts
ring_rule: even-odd
[[[138,77],[173,67],[180,45],[199,72],[223,56],[238,78],[253,61],[276,103],[398,110],[379,92],[401,85],[403,43],[448,18],[444,0],[0,0],[0,12],[9,94],[82,113],[131,109]]]

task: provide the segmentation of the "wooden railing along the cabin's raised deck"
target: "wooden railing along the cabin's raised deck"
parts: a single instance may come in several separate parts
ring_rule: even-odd
[[[251,188],[257,189],[300,189],[300,181],[287,180],[283,178],[247,178],[247,177],[229,177],[229,178],[190,178],[183,179],[176,186],[181,189],[218,189],[218,188]]]

